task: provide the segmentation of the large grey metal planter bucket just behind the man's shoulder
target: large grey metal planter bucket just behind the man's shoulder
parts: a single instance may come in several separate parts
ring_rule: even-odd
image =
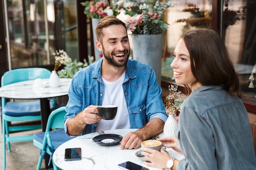
[[[146,63],[153,68],[157,82],[161,85],[163,34],[132,34],[133,60]]]

